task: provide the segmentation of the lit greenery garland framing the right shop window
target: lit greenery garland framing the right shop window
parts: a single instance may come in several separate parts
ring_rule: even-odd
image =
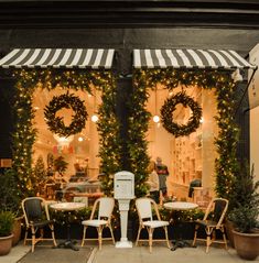
[[[143,182],[148,179],[147,167],[149,156],[147,155],[147,139],[148,123],[150,113],[145,110],[149,98],[149,89],[154,89],[158,84],[163,85],[169,90],[173,90],[179,86],[185,88],[201,87],[204,89],[215,88],[217,99],[218,114],[215,117],[219,132],[215,139],[216,151],[218,157],[215,160],[215,178],[216,193],[218,197],[229,199],[233,189],[233,179],[235,177],[238,161],[236,157],[239,129],[235,122],[236,100],[234,97],[235,83],[231,79],[230,73],[218,70],[186,70],[186,69],[136,69],[133,79],[133,101],[132,110],[130,111],[128,142],[132,171],[136,171],[137,187],[143,195],[145,186]],[[140,116],[143,116],[141,122]],[[140,145],[136,147],[136,145]],[[133,172],[134,173],[134,172]]]

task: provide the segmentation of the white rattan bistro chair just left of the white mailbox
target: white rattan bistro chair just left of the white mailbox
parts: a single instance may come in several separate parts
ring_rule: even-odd
[[[114,232],[111,228],[111,215],[112,215],[114,208],[115,208],[115,199],[112,197],[100,197],[96,199],[91,210],[90,219],[82,222],[82,224],[84,226],[82,246],[84,245],[85,240],[98,240],[99,250],[101,250],[102,240],[111,239],[115,244],[115,237],[114,237]],[[97,229],[98,239],[86,238],[86,230],[88,227],[94,227]],[[102,238],[104,228],[109,228],[110,234],[111,234],[110,238]]]

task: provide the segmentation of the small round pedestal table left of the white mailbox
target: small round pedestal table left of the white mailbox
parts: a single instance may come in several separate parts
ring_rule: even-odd
[[[57,211],[69,212],[69,211],[83,209],[86,207],[86,205],[83,202],[56,202],[51,205],[50,207]],[[65,249],[72,249],[72,250],[78,251],[79,249],[74,245],[75,242],[73,242],[71,239],[69,219],[66,221],[66,227],[67,227],[66,240],[64,242],[61,242],[57,245],[57,248],[65,248]]]

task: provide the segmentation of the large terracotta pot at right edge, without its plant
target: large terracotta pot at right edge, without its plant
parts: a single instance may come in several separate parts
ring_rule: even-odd
[[[256,260],[259,255],[259,233],[240,233],[233,230],[237,254],[244,260]]]

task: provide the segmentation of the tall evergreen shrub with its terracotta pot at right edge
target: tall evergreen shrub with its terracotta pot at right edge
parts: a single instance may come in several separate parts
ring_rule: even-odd
[[[247,165],[240,168],[235,179],[236,204],[229,213],[234,223],[234,243],[237,254],[245,260],[256,260],[259,255],[259,182],[253,180]]]

